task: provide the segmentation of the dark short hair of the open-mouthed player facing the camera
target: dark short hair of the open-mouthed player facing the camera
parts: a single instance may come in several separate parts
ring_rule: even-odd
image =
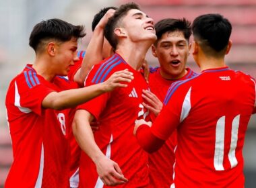
[[[155,45],[158,43],[158,40],[162,38],[162,35],[166,32],[182,32],[185,39],[189,42],[189,38],[191,36],[191,23],[187,19],[174,19],[174,18],[166,18],[161,19],[155,25],[157,40]]]

